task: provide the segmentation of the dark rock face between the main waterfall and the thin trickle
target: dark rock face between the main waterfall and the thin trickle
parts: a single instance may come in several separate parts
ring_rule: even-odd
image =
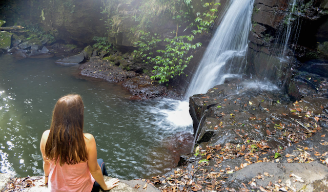
[[[248,73],[266,76],[271,80],[276,79],[277,76],[286,75],[277,69],[288,67],[288,65],[271,55],[274,37],[280,28],[287,8],[288,1],[255,1],[247,55]]]

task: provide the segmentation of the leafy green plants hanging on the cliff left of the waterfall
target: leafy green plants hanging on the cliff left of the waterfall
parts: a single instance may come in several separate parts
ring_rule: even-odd
[[[204,1],[202,5],[206,11],[198,12],[195,18],[192,0],[141,0],[137,6],[129,8],[129,12],[126,11],[125,8],[131,7],[132,2],[134,1],[103,0],[101,10],[105,14],[108,36],[117,40],[117,34],[122,32],[121,26],[131,26],[129,33],[125,31],[125,34],[138,48],[134,51],[134,58],[140,58],[154,66],[152,79],[164,83],[183,74],[193,58],[190,50],[201,46],[200,42],[192,42],[194,35],[210,32],[220,3]],[[171,31],[175,37],[164,39],[156,34],[154,27],[162,23],[176,25],[176,30]],[[179,30],[181,26],[188,27],[182,31]],[[192,29],[190,34],[186,32],[189,28]],[[180,35],[182,32],[184,34]],[[107,38],[98,40],[94,48],[103,50],[106,47],[104,51],[108,51],[111,45]],[[159,43],[165,49],[159,49]]]

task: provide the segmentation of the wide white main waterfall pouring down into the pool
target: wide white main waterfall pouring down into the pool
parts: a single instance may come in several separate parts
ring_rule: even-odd
[[[222,14],[221,24],[204,53],[186,93],[186,98],[206,93],[217,84],[222,84],[230,74],[222,70],[228,59],[245,57],[254,0],[231,0]],[[240,66],[242,69],[244,66]],[[239,70],[240,71],[240,70]]]

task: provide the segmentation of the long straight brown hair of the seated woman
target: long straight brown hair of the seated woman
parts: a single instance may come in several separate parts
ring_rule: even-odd
[[[46,143],[46,157],[60,166],[88,160],[83,135],[84,104],[81,96],[70,94],[58,99],[52,114]]]

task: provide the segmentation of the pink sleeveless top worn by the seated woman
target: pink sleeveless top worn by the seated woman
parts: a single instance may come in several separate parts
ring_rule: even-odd
[[[74,165],[64,164],[60,166],[59,161],[55,164],[50,162],[49,189],[54,192],[76,191],[89,192],[92,190],[94,178],[92,177],[88,163],[77,163]]]

